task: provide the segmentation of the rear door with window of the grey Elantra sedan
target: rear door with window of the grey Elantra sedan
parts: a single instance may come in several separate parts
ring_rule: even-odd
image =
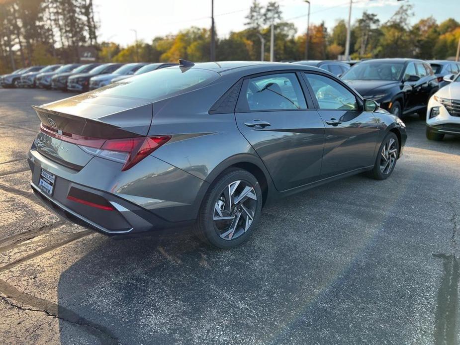
[[[279,191],[316,181],[321,171],[324,124],[299,77],[292,72],[245,79],[235,112],[240,132]]]

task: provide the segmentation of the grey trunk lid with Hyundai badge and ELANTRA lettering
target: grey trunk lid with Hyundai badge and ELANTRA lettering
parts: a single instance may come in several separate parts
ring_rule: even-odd
[[[145,99],[88,94],[33,106],[41,121],[35,146],[48,159],[81,170],[107,140],[146,136],[152,107]]]

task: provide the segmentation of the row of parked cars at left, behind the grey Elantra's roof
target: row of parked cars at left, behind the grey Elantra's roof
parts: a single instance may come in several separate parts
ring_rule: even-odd
[[[40,87],[86,92],[175,63],[92,63],[32,66],[0,76],[2,87]]]

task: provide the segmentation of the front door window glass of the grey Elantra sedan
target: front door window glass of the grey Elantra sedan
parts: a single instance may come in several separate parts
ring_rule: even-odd
[[[358,110],[355,95],[334,80],[317,74],[305,74],[320,109]]]

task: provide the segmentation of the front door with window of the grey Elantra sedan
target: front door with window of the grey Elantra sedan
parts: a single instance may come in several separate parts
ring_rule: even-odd
[[[320,73],[304,76],[325,126],[321,178],[373,165],[379,130],[373,114],[345,84]]]

